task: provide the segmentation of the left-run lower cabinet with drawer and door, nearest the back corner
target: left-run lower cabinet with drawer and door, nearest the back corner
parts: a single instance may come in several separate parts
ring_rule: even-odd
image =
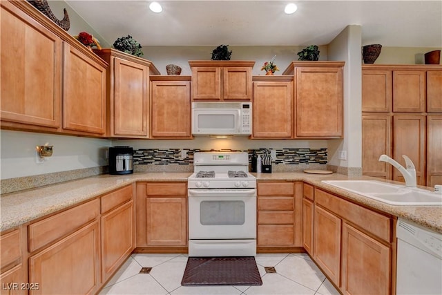
[[[129,185],[102,196],[102,283],[135,249],[135,204]]]

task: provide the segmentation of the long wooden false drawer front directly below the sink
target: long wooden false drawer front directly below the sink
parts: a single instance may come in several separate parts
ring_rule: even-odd
[[[331,193],[315,189],[316,204],[369,231],[378,238],[392,242],[391,220],[387,216],[343,200]]]

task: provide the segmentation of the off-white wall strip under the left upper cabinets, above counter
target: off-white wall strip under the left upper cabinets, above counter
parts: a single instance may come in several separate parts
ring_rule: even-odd
[[[7,130],[0,131],[0,140],[1,179],[104,166],[111,146],[111,140]],[[54,152],[37,163],[35,146],[46,142]]]

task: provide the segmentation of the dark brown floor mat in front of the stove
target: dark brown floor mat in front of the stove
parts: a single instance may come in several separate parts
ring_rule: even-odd
[[[254,257],[189,257],[181,285],[260,286]]]

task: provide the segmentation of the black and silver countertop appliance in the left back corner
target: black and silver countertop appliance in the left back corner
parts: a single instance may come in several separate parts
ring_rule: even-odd
[[[133,173],[133,148],[114,146],[109,148],[109,174]]]

